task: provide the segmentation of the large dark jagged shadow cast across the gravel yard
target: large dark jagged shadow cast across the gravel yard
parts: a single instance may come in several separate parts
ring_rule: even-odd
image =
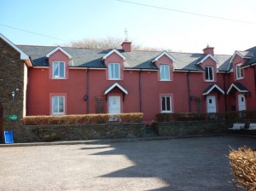
[[[99,145],[100,146],[100,145]],[[231,148],[256,148],[253,138],[201,137],[148,142],[113,142],[92,155],[125,155],[134,165],[102,177],[156,178],[168,185],[153,190],[234,190],[227,155]],[[99,148],[109,148],[102,147]],[[93,148],[96,149],[97,143]]]

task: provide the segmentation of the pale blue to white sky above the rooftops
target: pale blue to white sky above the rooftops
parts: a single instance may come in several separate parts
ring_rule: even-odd
[[[126,28],[128,39],[143,47],[201,53],[209,44],[232,55],[256,46],[255,9],[255,0],[0,0],[0,33],[15,44],[63,46],[125,39]]]

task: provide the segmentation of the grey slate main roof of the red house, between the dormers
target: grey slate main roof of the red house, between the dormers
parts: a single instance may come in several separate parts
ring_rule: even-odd
[[[32,63],[35,67],[49,67],[48,59],[45,57],[50,51],[55,49],[55,46],[30,46],[30,45],[18,45],[19,49],[24,51],[32,59]],[[102,61],[102,57],[108,54],[112,49],[84,49],[84,48],[72,48],[61,47],[68,54],[73,56],[73,61],[69,63],[69,67],[96,67],[106,68]],[[131,69],[148,69],[158,70],[159,68],[152,63],[155,57],[160,55],[162,51],[144,51],[144,50],[132,50],[131,52],[124,52],[122,49],[118,51],[125,56],[125,68]],[[180,53],[180,52],[168,52],[175,58],[174,69],[175,70],[192,70],[203,71],[196,63],[203,59],[206,55],[198,53]],[[231,55],[214,55],[218,60],[217,68],[219,71],[230,70],[230,58]]]

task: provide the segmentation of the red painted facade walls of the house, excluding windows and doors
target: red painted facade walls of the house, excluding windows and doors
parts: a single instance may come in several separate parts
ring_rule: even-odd
[[[66,79],[52,79],[51,65],[53,61],[65,61],[68,64],[67,55],[56,51],[55,54],[49,57],[49,68],[30,68],[28,71],[28,89],[27,89],[27,115],[50,115],[50,96],[62,95],[66,97],[66,114],[82,114],[96,113],[96,97],[103,98],[103,113],[108,113],[108,96],[121,96],[121,111],[123,113],[140,112],[140,89],[139,75],[141,75],[142,84],[142,112],[144,113],[143,120],[152,122],[155,119],[155,114],[160,113],[161,104],[160,96],[172,96],[172,112],[187,113],[189,112],[189,101],[191,112],[198,112],[195,98],[201,100],[201,112],[207,112],[206,97],[202,96],[203,90],[210,84],[218,84],[224,90],[224,74],[216,73],[216,63],[208,58],[200,67],[214,67],[214,82],[205,81],[205,72],[173,72],[173,63],[166,55],[162,56],[159,61],[156,61],[156,66],[161,63],[169,64],[171,72],[171,81],[160,81],[159,71],[132,71],[125,70],[123,59],[113,53],[104,61],[107,69],[68,69]],[[234,64],[240,61],[239,58],[234,59]],[[108,79],[108,64],[120,63],[120,80]],[[89,82],[87,82],[89,75]],[[244,77],[239,80],[247,86],[252,96],[247,97],[247,109],[256,108],[255,100],[255,84],[253,83],[253,67],[244,69]],[[194,99],[189,100],[188,96],[188,81],[190,96]],[[225,74],[226,90],[230,84],[234,82],[234,74]],[[118,83],[128,95],[124,95],[118,88],[113,89],[104,95],[112,84]],[[89,92],[87,92],[87,84]],[[225,111],[224,95],[220,95],[218,90],[212,90],[209,95],[216,96],[217,112]],[[88,96],[88,100],[84,101],[84,96]],[[227,96],[226,105],[228,111],[232,105],[236,105],[236,96]],[[89,108],[87,108],[89,105]]]

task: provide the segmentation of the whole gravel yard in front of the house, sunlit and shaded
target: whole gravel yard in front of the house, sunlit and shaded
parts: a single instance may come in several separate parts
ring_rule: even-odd
[[[0,148],[0,190],[235,190],[230,147],[253,138]]]

